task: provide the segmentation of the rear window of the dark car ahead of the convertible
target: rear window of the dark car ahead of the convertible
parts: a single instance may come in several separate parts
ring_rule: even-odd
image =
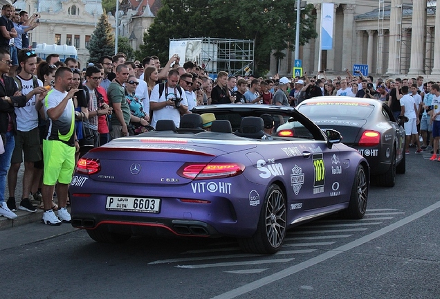
[[[313,102],[298,108],[311,119],[366,119],[372,114],[374,105],[363,102]]]

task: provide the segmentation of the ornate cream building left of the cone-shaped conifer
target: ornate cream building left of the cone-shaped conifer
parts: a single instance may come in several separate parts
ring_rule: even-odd
[[[35,12],[41,15],[40,25],[28,33],[30,44],[75,46],[78,61],[82,67],[86,66],[89,59],[86,45],[102,15],[101,0],[19,0],[14,6],[29,15]]]

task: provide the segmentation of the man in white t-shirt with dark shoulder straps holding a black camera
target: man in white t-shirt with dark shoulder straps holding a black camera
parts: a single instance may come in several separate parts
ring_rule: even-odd
[[[190,113],[185,91],[177,85],[179,78],[178,71],[172,69],[168,73],[167,82],[154,86],[149,98],[149,107],[153,111],[152,127],[156,128],[157,121],[163,119],[173,120],[178,127],[181,124],[181,114]]]

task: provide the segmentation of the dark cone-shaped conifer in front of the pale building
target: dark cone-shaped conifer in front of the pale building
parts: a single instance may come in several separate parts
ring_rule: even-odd
[[[115,37],[113,28],[109,24],[109,18],[104,13],[100,17],[100,21],[90,39],[89,46],[89,62],[98,62],[99,58],[104,55],[112,56],[115,53]]]

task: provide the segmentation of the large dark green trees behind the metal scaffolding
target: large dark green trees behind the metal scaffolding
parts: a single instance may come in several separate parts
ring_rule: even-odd
[[[170,38],[213,37],[255,40],[255,69],[268,69],[271,52],[295,45],[292,0],[163,0],[138,54],[168,60]],[[301,12],[300,44],[318,36],[313,5]]]

